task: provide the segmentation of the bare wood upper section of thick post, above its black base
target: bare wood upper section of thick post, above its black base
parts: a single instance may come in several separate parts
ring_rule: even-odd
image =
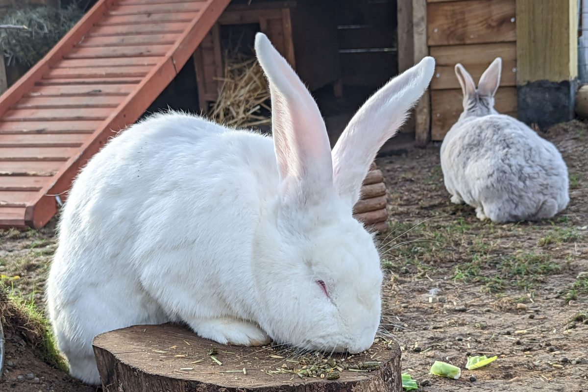
[[[517,82],[577,76],[577,0],[516,0]]]

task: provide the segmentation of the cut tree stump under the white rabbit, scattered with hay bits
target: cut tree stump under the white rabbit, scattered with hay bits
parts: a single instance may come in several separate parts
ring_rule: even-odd
[[[93,347],[105,392],[402,391],[400,347],[380,338],[364,353],[327,362],[279,347],[224,346],[171,323],[106,332]],[[320,371],[324,378],[300,376],[309,358],[326,367],[336,360],[339,378],[332,369]]]

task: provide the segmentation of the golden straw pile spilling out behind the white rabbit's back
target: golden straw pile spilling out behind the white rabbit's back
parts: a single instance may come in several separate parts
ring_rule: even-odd
[[[235,128],[271,124],[268,83],[257,59],[228,51],[225,75],[219,82],[219,99],[208,113],[210,118]]]

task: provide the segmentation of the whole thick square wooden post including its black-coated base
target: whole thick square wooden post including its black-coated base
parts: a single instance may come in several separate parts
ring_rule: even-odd
[[[571,120],[577,89],[577,0],[517,0],[519,119]]]

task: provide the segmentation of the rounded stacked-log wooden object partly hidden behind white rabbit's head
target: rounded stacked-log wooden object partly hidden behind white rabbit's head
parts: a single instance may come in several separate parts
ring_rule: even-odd
[[[383,233],[388,228],[386,185],[376,163],[372,163],[366,179],[363,180],[361,199],[353,207],[353,217],[378,233]]]

